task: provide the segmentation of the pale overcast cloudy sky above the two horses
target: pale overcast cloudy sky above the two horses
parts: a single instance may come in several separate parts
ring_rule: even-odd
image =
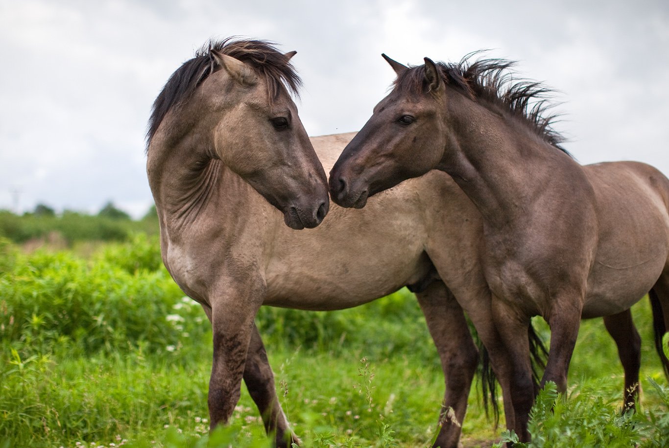
[[[0,0],[0,208],[42,202],[134,216],[151,104],[210,38],[268,39],[302,75],[310,135],[358,130],[393,71],[477,49],[561,93],[581,163],[640,160],[669,175],[669,2]]]

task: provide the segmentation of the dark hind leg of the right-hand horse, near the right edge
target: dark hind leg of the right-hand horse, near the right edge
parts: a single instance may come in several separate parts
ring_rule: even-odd
[[[634,326],[632,312],[626,310],[604,317],[604,326],[618,349],[625,373],[624,410],[635,409],[639,398],[639,369],[641,367],[641,337]]]

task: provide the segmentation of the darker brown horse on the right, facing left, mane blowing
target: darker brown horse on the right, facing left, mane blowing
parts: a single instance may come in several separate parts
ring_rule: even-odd
[[[330,170],[330,197],[361,208],[439,170],[475,204],[492,292],[488,324],[512,361],[511,426],[528,441],[537,393],[531,316],[551,328],[541,386],[553,381],[564,392],[581,318],[604,316],[609,331],[627,332],[636,345],[629,308],[650,291],[668,371],[661,338],[669,326],[669,180],[638,162],[581,166],[551,126],[549,90],[515,81],[510,61],[472,56],[407,67],[383,55],[397,74],[393,89]],[[628,347],[621,359],[637,350]]]

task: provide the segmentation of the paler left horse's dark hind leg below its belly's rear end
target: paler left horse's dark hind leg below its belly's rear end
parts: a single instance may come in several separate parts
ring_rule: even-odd
[[[478,350],[472,341],[462,307],[443,282],[430,284],[416,296],[442,361],[446,381],[444,405],[440,413],[442,427],[433,446],[457,447],[476,373]]]

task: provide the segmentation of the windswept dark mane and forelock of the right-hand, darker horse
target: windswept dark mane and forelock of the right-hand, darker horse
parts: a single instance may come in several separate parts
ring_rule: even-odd
[[[510,68],[515,61],[505,59],[475,59],[480,51],[465,55],[458,63],[438,62],[442,79],[448,85],[462,90],[471,99],[483,99],[490,104],[500,105],[512,116],[526,122],[530,128],[547,143],[569,154],[560,145],[565,138],[553,129],[557,114],[549,114],[553,107],[551,93],[542,83],[516,81]],[[423,91],[425,65],[411,67],[395,79],[395,88],[404,93],[415,94]]]

